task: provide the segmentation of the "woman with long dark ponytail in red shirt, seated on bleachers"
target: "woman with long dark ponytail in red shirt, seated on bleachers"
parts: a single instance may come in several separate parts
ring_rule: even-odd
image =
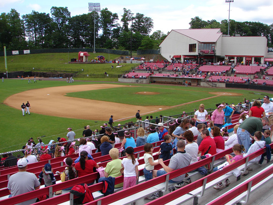
[[[107,137],[108,138],[108,137]],[[110,144],[111,145],[111,144]],[[75,164],[75,169],[78,172],[78,177],[86,176],[88,174],[94,173],[93,168],[99,168],[99,165],[92,159],[88,159],[88,153],[87,151],[82,151],[80,153],[80,159],[79,162]],[[91,182],[87,184],[88,186],[92,185],[94,183]]]

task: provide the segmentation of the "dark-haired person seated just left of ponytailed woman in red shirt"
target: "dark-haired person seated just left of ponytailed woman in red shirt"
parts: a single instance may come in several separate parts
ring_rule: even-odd
[[[66,181],[68,181],[70,179],[77,178],[78,177],[78,172],[75,169],[75,167],[72,166],[73,160],[70,157],[68,157],[68,158],[64,159],[64,162],[66,164],[66,168],[63,171],[63,173],[57,172],[57,174],[60,175],[60,177],[61,177],[61,181],[66,182]],[[71,190],[71,189],[72,189],[72,187],[69,187],[69,188],[64,189],[64,190]]]

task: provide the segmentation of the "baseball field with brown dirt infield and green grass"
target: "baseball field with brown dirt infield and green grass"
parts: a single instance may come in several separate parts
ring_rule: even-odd
[[[183,111],[215,108],[222,101],[229,104],[263,98],[266,92],[254,90],[185,87],[163,84],[128,84],[114,82],[5,79],[0,84],[0,153],[22,148],[29,137],[44,143],[65,137],[71,127],[80,137],[83,127],[99,129],[114,116],[115,125],[135,122],[135,114],[170,116]],[[22,116],[21,104],[29,101],[31,115]]]

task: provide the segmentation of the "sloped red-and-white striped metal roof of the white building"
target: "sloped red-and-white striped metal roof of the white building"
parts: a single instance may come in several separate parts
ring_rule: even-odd
[[[216,42],[222,35],[220,28],[202,28],[202,29],[177,29],[173,30],[182,35],[188,36],[201,43]]]

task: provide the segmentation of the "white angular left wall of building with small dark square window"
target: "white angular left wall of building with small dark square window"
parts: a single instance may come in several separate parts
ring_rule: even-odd
[[[196,44],[196,52],[189,52],[189,44]],[[174,55],[198,55],[198,41],[173,30],[160,47],[161,55],[169,61]]]

